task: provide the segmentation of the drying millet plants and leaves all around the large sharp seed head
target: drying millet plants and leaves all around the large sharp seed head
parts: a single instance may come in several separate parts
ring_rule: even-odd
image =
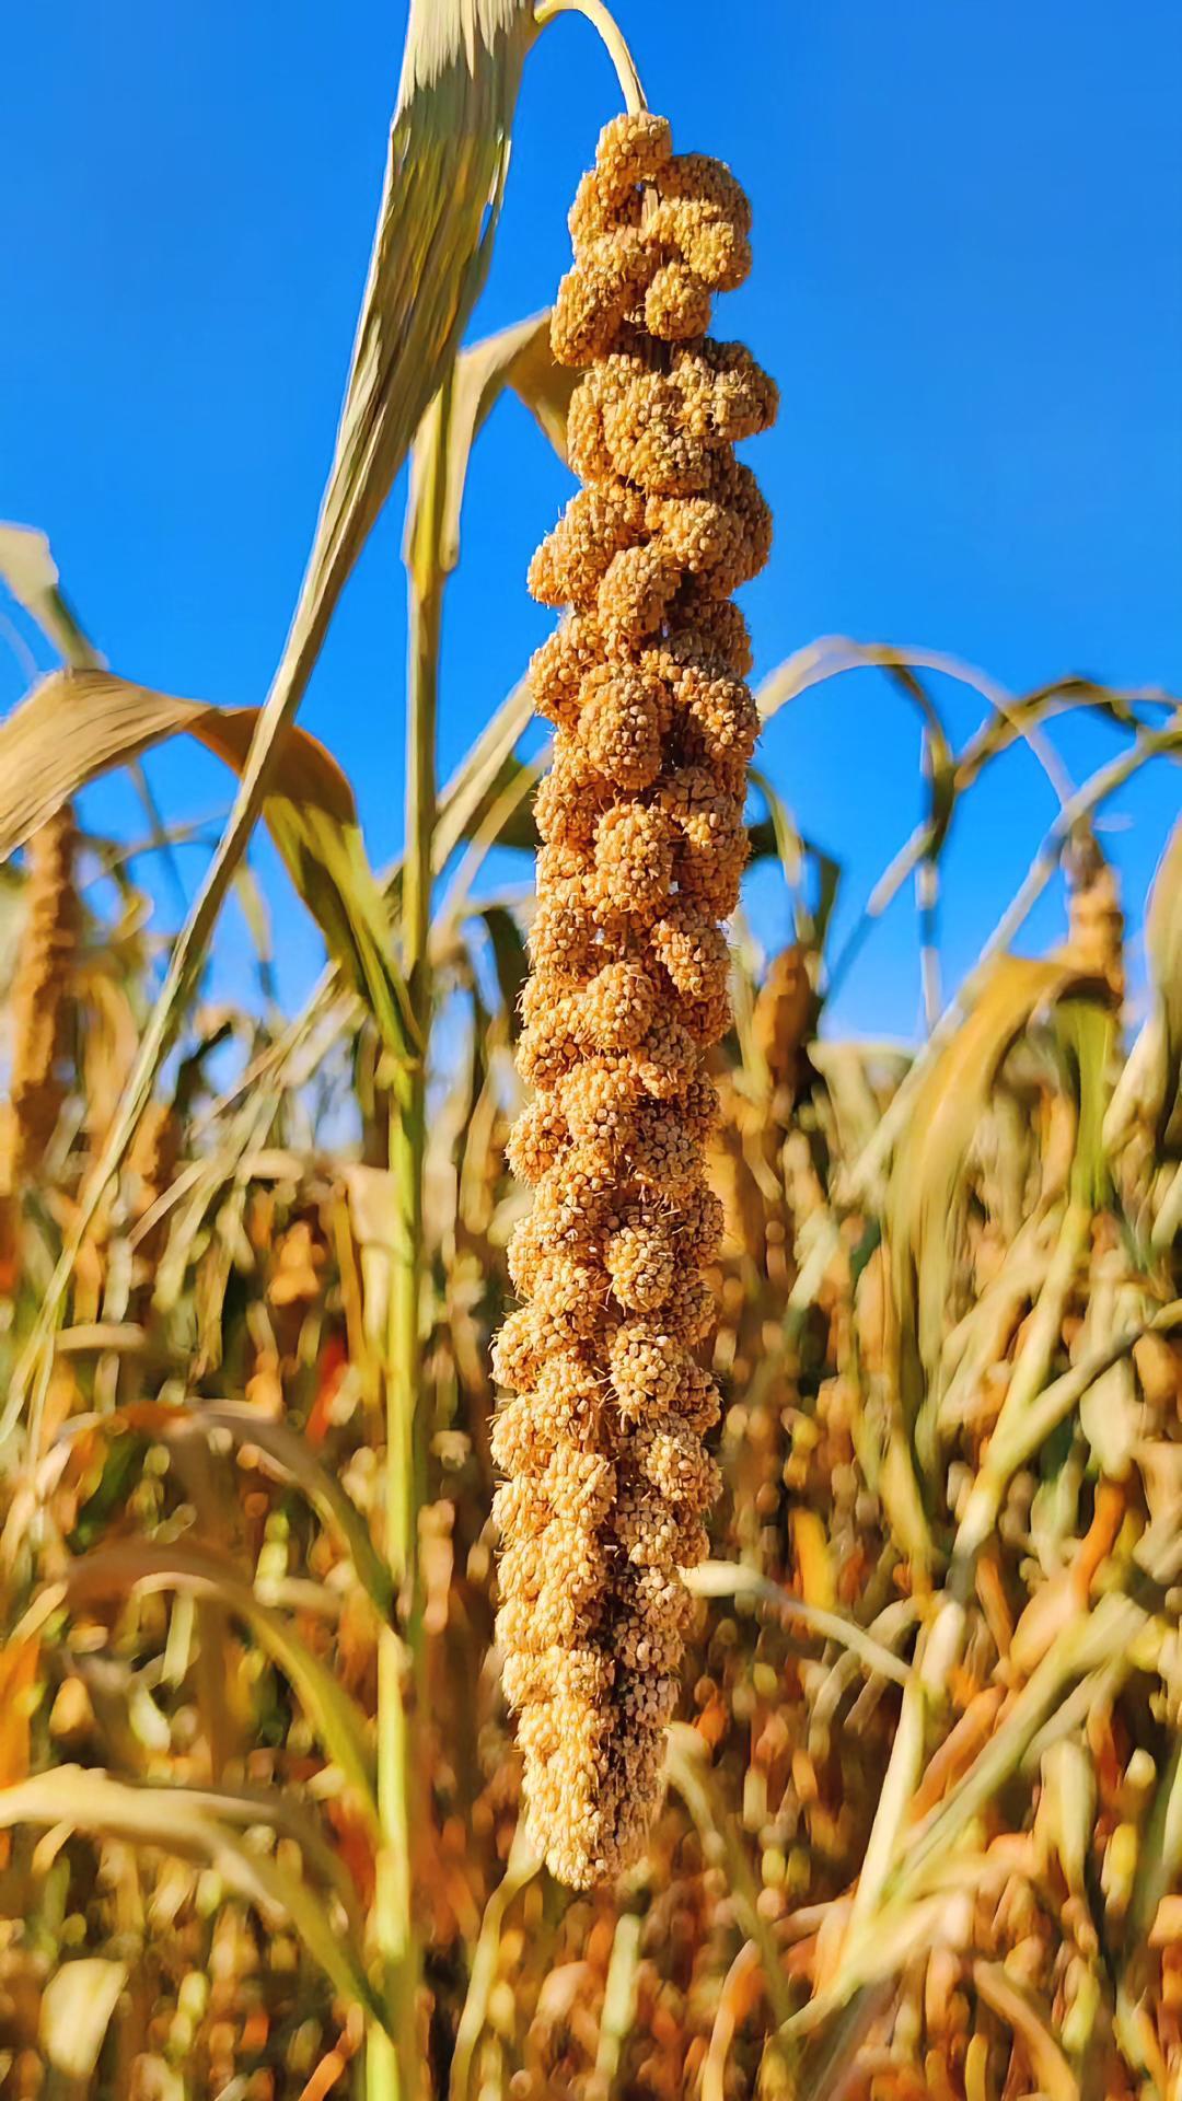
[[[536,761],[528,698],[433,775],[467,460],[513,387],[562,448],[545,317],[458,351],[530,17],[412,21],[337,464],[259,714],[109,674],[40,536],[0,565],[63,670],[0,729],[0,2063],[15,2097],[1161,2095],[1182,2078],[1182,832],[1125,1000],[1100,817],[1178,706],[1026,695],[827,639],[759,691],[885,674],[923,817],[833,948],[841,840],[770,779],[717,1053],[728,1237],[709,1345],[726,1494],[667,1805],[572,1899],[517,1836],[492,1651],[488,1340],[522,1208],[503,1141]],[[707,141],[709,143],[709,141]],[[408,242],[435,227],[410,298]],[[423,248],[427,244],[423,242]],[[431,296],[427,296],[431,292]],[[414,374],[414,387],[408,387]],[[406,853],[292,727],[412,454]],[[982,704],[955,748],[938,693]],[[1075,788],[1068,710],[1117,756]],[[76,798],[160,737],[240,796],[179,937]],[[940,987],[940,870],[995,765],[1060,800],[980,966]],[[263,815],[330,964],[269,998]],[[490,876],[507,870],[507,882]],[[513,861],[509,855],[517,855]],[[1066,876],[1062,939],[1014,943]],[[824,1004],[915,885],[925,1042]],[[259,987],[210,1006],[236,885]],[[1140,1023],[1140,1025],[1134,1025]]]

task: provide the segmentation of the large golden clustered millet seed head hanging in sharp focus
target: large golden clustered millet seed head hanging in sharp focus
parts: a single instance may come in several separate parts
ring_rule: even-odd
[[[494,1351],[503,1536],[498,1641],[519,1710],[534,1845],[572,1887],[644,1849],[705,1555],[719,1401],[694,1351],[721,1229],[705,1183],[707,1050],[728,1027],[757,710],[730,595],[763,567],[770,513],[736,439],[776,389],[705,330],[749,269],[734,176],[673,155],[669,124],[604,130],[572,214],[551,340],[583,366],[583,487],[530,588],[566,607],[530,679],[555,725],[511,1137],[534,1208],[511,1246],[524,1301]]]

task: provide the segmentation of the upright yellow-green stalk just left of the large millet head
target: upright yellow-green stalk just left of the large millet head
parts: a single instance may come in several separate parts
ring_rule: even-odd
[[[389,1172],[395,1231],[387,1332],[387,1557],[395,1624],[379,1647],[379,1819],[374,1929],[391,2036],[368,2040],[368,2101],[414,2101],[421,2090],[419,1988],[423,1954],[414,1925],[412,1834],[425,1767],[419,1756],[423,1683],[423,1586],[419,1511],[427,1475],[423,1382],[423,1177],[427,1158],[427,1042],[431,1029],[431,849],[435,838],[435,714],[446,571],[437,561],[446,504],[446,433],[452,382],[444,382],[416,441],[421,481],[406,546],[410,662],[406,693],[406,857],[402,872],[402,969],[421,1059],[391,1076]]]

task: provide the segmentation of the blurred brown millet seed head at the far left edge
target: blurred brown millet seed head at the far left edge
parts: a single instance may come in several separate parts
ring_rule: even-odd
[[[27,912],[11,998],[6,1158],[0,1162],[0,1179],[8,1187],[36,1170],[61,1111],[59,1063],[80,931],[76,853],[78,830],[69,807],[42,824],[27,847]]]

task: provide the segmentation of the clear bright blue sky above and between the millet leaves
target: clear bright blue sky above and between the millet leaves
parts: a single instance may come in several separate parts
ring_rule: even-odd
[[[721,303],[774,370],[751,450],[776,511],[749,592],[757,668],[827,632],[953,649],[1012,687],[1062,670],[1182,687],[1182,11],[1176,0],[620,0],[681,147],[755,202],[755,275]],[[128,677],[259,702],[299,586],[347,368],[398,84],[402,0],[53,0],[0,32],[0,515],[42,525]],[[585,23],[534,50],[473,328],[543,307],[566,206],[614,109]],[[482,439],[448,605],[442,771],[549,616],[528,555],[568,492],[517,403]],[[400,843],[402,492],[349,586],[303,721]],[[21,689],[0,641],[0,704]],[[978,706],[940,693],[959,735]],[[1083,775],[1113,750],[1066,735]],[[848,912],[919,809],[915,727],[877,679],[776,721],[763,765],[848,866]],[[225,800],[212,761],[149,763],[172,817]],[[97,824],[139,830],[126,788]],[[1140,906],[1178,773],[1110,845]],[[1054,813],[1007,761],[949,855],[955,977]],[[189,874],[200,859],[189,853]],[[263,872],[273,874],[267,853]],[[315,933],[271,882],[282,987]],[[246,939],[231,908],[225,983]],[[784,931],[763,897],[759,924]],[[1047,941],[1056,914],[1033,922]],[[902,903],[837,1021],[917,1017]]]

